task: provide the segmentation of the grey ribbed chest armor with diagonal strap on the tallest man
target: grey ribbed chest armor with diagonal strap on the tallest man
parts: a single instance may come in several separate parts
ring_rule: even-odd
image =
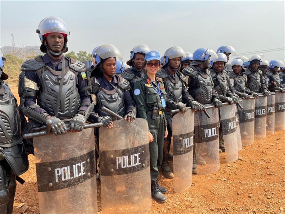
[[[56,103],[60,102],[59,119],[72,118],[80,106],[80,94],[76,87],[77,72],[66,67],[61,96],[58,97],[61,71],[54,71],[48,66],[37,72],[42,84],[38,95],[38,105],[48,114],[54,115]]]

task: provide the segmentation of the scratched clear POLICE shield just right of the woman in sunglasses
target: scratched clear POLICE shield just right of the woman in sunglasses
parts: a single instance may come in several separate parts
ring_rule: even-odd
[[[187,125],[186,125],[187,124]],[[182,192],[192,185],[194,112],[188,110],[172,118],[174,191]]]

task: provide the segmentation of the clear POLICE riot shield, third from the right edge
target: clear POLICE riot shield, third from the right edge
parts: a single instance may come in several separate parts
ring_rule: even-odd
[[[266,137],[266,106],[266,96],[259,96],[259,98],[255,100],[254,139]]]

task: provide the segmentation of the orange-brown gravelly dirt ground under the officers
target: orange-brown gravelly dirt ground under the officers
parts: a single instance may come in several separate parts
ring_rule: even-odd
[[[17,97],[17,87],[11,87]],[[30,168],[18,183],[14,213],[20,204],[26,213],[39,213],[34,157],[29,155]],[[172,167],[172,161],[170,161]],[[159,183],[166,187],[166,203],[152,200],[148,213],[284,213],[285,209],[285,131],[255,140],[239,151],[239,160],[226,163],[220,154],[220,168],[210,175],[195,175],[192,186],[175,193],[173,180],[160,174]],[[98,211],[101,213],[100,182],[97,181]]]

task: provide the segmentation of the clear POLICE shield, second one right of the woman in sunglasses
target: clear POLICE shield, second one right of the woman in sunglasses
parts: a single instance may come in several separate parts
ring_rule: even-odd
[[[207,106],[211,106],[211,104],[205,105],[205,107]],[[194,143],[196,143],[196,160],[199,175],[213,173],[220,167],[219,111],[217,108],[210,108],[207,109],[207,112],[211,118],[207,118],[204,112],[195,112],[194,115]]]

